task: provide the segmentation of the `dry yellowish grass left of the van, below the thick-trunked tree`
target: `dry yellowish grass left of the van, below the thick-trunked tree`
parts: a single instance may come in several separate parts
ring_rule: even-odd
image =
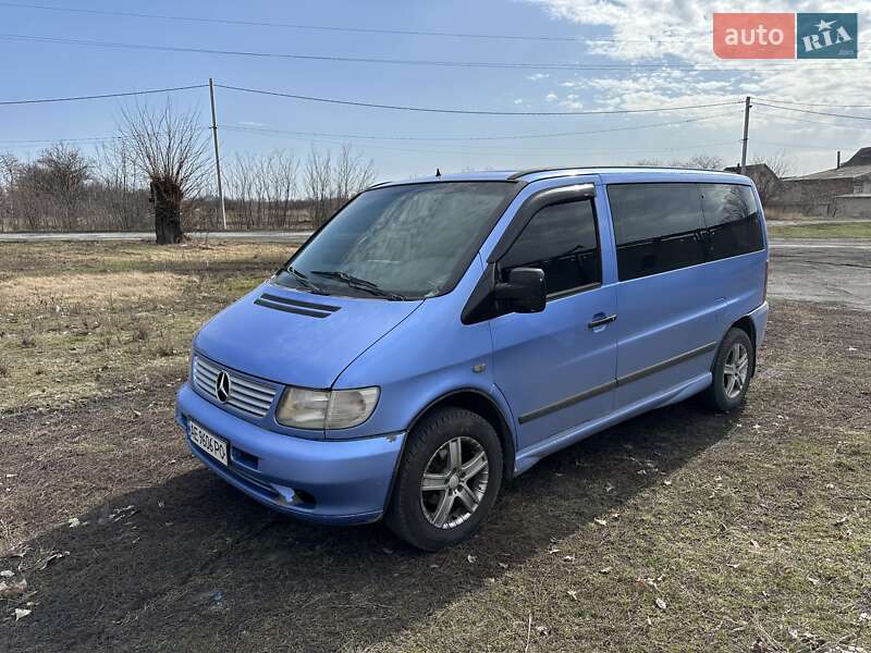
[[[0,414],[184,374],[196,329],[292,247],[0,244]]]

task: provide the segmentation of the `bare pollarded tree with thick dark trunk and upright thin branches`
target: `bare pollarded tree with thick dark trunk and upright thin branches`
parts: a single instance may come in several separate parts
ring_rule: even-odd
[[[122,110],[121,136],[150,183],[158,245],[181,243],[182,202],[198,193],[210,170],[207,134],[197,111],[136,106]]]

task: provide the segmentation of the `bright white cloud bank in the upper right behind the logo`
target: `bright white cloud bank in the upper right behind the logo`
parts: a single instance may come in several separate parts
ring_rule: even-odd
[[[868,104],[866,85],[860,83],[871,73],[871,22],[861,19],[871,14],[871,0],[855,0],[841,11],[858,12],[859,61],[721,60],[713,54],[713,13],[722,12],[796,12],[824,11],[817,0],[799,2],[773,1],[761,7],[747,0],[690,2],[688,0],[527,0],[541,7],[554,20],[578,26],[582,38],[579,54],[585,63],[603,65],[639,64],[637,69],[610,71],[588,70],[554,79],[556,87],[572,89],[572,96],[561,102],[578,102],[608,109],[655,109],[667,106],[736,102],[734,115],[701,123],[738,133],[741,109],[738,101],[746,95],[803,102],[839,102]],[[838,11],[838,10],[833,10]],[[600,40],[592,40],[592,39]],[[658,67],[659,63],[684,67]],[[692,67],[695,66],[695,67]],[[707,69],[707,70],[706,70]],[[716,69],[716,70],[711,70]],[[553,98],[551,98],[553,96]],[[547,96],[555,101],[556,95]],[[710,115],[729,110],[728,107],[662,114],[672,120]],[[858,109],[822,109],[835,113],[866,115]],[[653,119],[653,116],[651,116]],[[798,119],[798,120],[796,120]],[[812,122],[801,122],[811,120]],[[655,122],[655,120],[653,121]],[[833,123],[837,124],[833,124]],[[822,124],[815,124],[822,123]],[[806,145],[822,144],[832,149],[855,150],[871,145],[860,127],[867,122],[814,116],[757,106],[751,113],[750,144],[764,143]],[[864,132],[868,134],[868,131]],[[781,148],[783,149],[783,148]],[[827,151],[795,149],[790,156],[802,168],[812,169],[818,161],[827,160]]]

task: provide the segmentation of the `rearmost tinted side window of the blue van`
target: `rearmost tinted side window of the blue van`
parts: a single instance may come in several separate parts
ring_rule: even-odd
[[[762,224],[749,186],[699,184],[699,190],[712,260],[762,249]]]

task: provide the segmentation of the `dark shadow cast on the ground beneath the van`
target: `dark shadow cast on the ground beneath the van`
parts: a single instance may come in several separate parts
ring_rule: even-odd
[[[739,415],[684,403],[559,452],[505,488],[478,537],[436,554],[381,525],[275,515],[196,469],[114,496],[82,526],[27,543],[25,557],[0,559],[22,567],[38,602],[19,623],[0,617],[0,640],[12,651],[363,649],[661,485]],[[39,570],[52,552],[64,556]]]

